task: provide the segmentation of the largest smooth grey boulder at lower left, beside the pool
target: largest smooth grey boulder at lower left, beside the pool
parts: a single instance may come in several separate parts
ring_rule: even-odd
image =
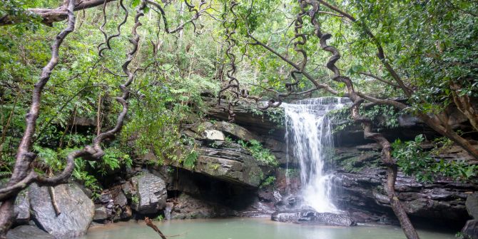
[[[55,238],[71,238],[86,233],[93,220],[94,204],[88,196],[73,183],[54,187],[56,203],[61,212],[56,215],[48,187],[30,185],[31,210],[36,222],[54,235]]]

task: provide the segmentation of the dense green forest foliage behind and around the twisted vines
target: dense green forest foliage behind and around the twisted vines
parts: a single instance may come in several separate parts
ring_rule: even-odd
[[[24,116],[31,102],[31,88],[50,58],[51,41],[64,27],[64,22],[44,26],[37,16],[25,10],[55,9],[59,3],[41,0],[0,2],[0,16],[8,14],[19,22],[0,28],[0,135],[5,135],[0,142],[0,177],[11,175],[16,148],[25,127]],[[137,0],[129,1],[126,4],[128,11],[132,12],[138,3]],[[453,83],[460,85],[456,90],[459,96],[478,96],[478,24],[477,19],[469,14],[477,9],[476,2],[356,0],[330,3],[349,11],[358,19],[353,24],[327,14],[318,16],[322,30],[333,36],[330,43],[341,49],[342,59],[337,61],[337,66],[352,78],[357,91],[382,98],[404,97],[395,86],[387,86],[360,74],[361,71],[370,71],[387,81],[393,80],[375,56],[376,47],[364,34],[365,26],[368,26],[377,42],[382,44],[386,61],[397,69],[407,86],[417,89],[408,101],[410,108],[407,112],[443,111],[452,103],[454,91],[450,86]],[[170,26],[188,19],[187,12],[178,11],[179,4],[182,2],[165,6],[166,16],[171,19]],[[216,18],[220,18],[220,14],[225,12],[225,24],[232,26],[234,19],[227,7],[230,2],[214,4],[215,9],[221,12],[210,11],[209,14],[217,14]],[[123,13],[106,12],[108,23],[104,29],[111,35],[116,32],[118,16],[121,18]],[[302,61],[290,42],[293,39],[290,19],[298,13],[298,4],[296,1],[241,0],[235,13],[238,16],[238,29],[234,36],[238,47],[232,50],[237,59],[235,76],[241,88],[251,94],[273,98],[275,93],[265,89],[285,91],[284,83],[290,82],[293,67],[260,46],[249,44],[246,48],[246,41],[250,43],[246,34],[249,31],[291,61]],[[106,73],[105,68],[121,74],[121,65],[130,47],[129,31],[126,29],[133,26],[133,18],[129,18],[123,26],[126,34],[111,41],[112,49],[105,51],[105,56],[100,58],[97,46],[103,41],[103,35],[98,32],[101,7],[86,9],[83,14],[76,15],[76,29],[63,42],[59,64],[41,97],[41,115],[33,138],[33,150],[38,155],[34,165],[41,173],[61,171],[68,152],[91,143],[96,128],[77,127],[76,121],[99,116],[101,130],[104,131],[114,126],[116,116],[122,110],[121,105],[114,101],[114,96],[120,93],[118,84],[124,79]],[[198,34],[193,34],[193,27],[188,25],[181,34],[168,35],[158,32],[158,16],[153,11],[146,15],[141,19],[143,26],[139,29],[141,41],[138,55],[131,64],[132,69],[139,70],[132,84],[130,108],[121,137],[104,146],[106,155],[98,162],[82,158],[75,162],[73,177],[96,195],[101,190],[101,183],[98,182],[101,176],[131,167],[133,158],[141,158],[146,153],[157,156],[158,161],[151,163],[173,160],[193,168],[198,154],[190,150],[194,148],[193,140],[181,136],[180,126],[203,118],[207,109],[201,93],[217,93],[227,71],[224,67],[228,60],[225,60],[221,22],[201,17],[195,25]],[[305,71],[317,78],[317,82],[327,83],[339,94],[344,93],[345,85],[330,81],[330,72],[320,67],[330,59],[330,54],[320,49],[307,20],[302,33],[307,36],[303,49],[309,53]],[[151,43],[155,41],[161,44],[153,54]],[[301,79],[295,90],[311,87],[312,83]],[[317,91],[310,96],[327,95]],[[251,107],[250,112],[268,118],[278,126],[284,125],[283,108],[259,111]],[[400,115],[390,106],[361,108],[360,113],[378,122],[382,128],[396,127]],[[339,121],[336,129],[352,124],[347,108],[331,113],[331,117]],[[430,174],[460,180],[476,177],[476,166],[462,161],[437,161],[435,156],[439,148],[423,151],[417,140],[415,144],[394,144],[394,153],[407,173],[419,174],[423,171],[422,180],[432,180],[432,176],[427,176]],[[444,139],[437,143],[446,148],[450,142]],[[230,143],[232,141],[226,138],[226,145]],[[258,161],[278,166],[274,156],[258,141],[242,142],[241,145]],[[263,178],[263,175],[260,177]]]

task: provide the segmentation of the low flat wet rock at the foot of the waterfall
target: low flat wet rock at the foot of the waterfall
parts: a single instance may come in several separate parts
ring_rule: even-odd
[[[313,210],[284,211],[275,212],[271,219],[281,223],[307,223],[317,225],[357,225],[352,218],[347,215],[336,213],[317,213]]]

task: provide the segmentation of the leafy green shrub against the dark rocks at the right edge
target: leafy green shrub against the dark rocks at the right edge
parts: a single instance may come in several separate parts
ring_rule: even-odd
[[[439,177],[453,178],[454,180],[470,180],[476,178],[478,165],[464,161],[445,161],[434,157],[433,151],[424,151],[420,146],[424,143],[424,136],[418,135],[415,141],[397,140],[392,144],[392,156],[397,159],[400,169],[407,175],[415,176],[418,180],[432,182]]]

